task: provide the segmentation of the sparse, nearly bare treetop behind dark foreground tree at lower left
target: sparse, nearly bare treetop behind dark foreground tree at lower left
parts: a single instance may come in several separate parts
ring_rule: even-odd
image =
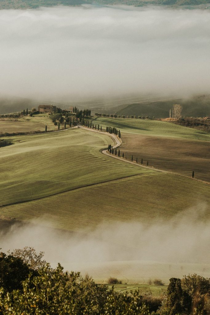
[[[21,258],[26,265],[31,269],[39,270],[46,266],[46,261],[43,260],[44,252],[36,253],[33,247],[24,247],[23,249],[14,249],[13,252],[8,251],[9,255]]]

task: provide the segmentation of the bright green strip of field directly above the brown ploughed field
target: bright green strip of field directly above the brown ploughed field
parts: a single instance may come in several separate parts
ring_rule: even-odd
[[[174,123],[139,118],[94,117],[92,123],[116,127],[124,133],[210,141],[210,133]]]

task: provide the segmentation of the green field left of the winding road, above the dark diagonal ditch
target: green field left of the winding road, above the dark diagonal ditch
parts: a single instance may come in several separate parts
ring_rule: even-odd
[[[99,150],[113,140],[82,129],[9,137],[1,148],[0,205],[33,200],[86,185],[149,173]]]

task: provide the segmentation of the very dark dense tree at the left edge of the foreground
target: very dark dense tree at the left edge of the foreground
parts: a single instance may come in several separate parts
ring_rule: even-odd
[[[0,287],[4,290],[10,292],[22,289],[21,281],[25,280],[30,272],[31,276],[37,274],[31,271],[22,259],[0,253]]]

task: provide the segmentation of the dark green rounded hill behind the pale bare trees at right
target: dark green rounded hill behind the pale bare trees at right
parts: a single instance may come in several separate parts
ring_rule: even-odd
[[[183,107],[183,116],[204,117],[210,116],[210,95],[196,96],[191,99],[173,99],[156,102],[142,102],[130,104],[115,112],[116,115],[155,116],[156,118],[169,117],[169,110],[173,104]]]

